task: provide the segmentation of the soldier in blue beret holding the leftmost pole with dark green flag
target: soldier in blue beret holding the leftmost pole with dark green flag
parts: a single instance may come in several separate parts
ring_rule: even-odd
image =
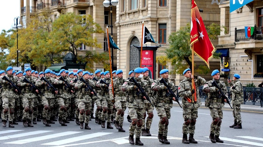
[[[119,132],[125,132],[122,126],[124,120],[124,111],[126,110],[126,94],[121,90],[121,86],[124,84],[125,79],[122,78],[123,72],[121,69],[117,70],[116,74],[117,78],[113,80],[114,93],[112,93],[112,83],[109,86],[109,92],[111,101],[114,103],[117,110],[115,117],[115,127]]]

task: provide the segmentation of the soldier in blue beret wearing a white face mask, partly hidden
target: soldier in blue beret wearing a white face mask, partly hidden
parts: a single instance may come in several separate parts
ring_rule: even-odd
[[[147,89],[145,89],[145,92],[147,92],[150,100],[153,100],[153,91],[151,90],[151,86],[153,83],[153,79],[149,77],[149,69],[147,67],[143,68],[143,79],[147,81]],[[142,120],[142,136],[152,136],[150,133],[151,125],[152,125],[152,118],[153,118],[153,109],[154,107],[152,104],[145,100],[144,101],[144,109],[143,109],[143,120]],[[145,128],[145,118],[146,118],[146,111],[148,114],[147,120],[146,120],[146,128]]]

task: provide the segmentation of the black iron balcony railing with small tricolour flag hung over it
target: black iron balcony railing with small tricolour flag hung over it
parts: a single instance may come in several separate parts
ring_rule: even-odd
[[[249,40],[263,40],[263,27],[257,27],[255,25],[253,35],[249,38],[246,38],[245,36],[245,29],[237,30],[235,28],[235,42]]]

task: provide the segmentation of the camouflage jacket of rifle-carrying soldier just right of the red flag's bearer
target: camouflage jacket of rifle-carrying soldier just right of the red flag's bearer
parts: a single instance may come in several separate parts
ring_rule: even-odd
[[[228,97],[227,94],[227,88],[226,85],[224,84],[224,82],[219,80],[210,80],[208,82],[206,82],[206,84],[204,84],[204,89],[209,89],[210,92],[208,93],[208,98],[206,99],[207,104],[205,104],[207,107],[209,108],[223,108],[224,107],[224,103],[222,101],[222,98],[219,95],[219,92],[216,92],[216,87],[212,86],[212,82],[216,81],[216,83],[218,84],[218,86],[221,88],[221,90],[224,92],[225,96]]]

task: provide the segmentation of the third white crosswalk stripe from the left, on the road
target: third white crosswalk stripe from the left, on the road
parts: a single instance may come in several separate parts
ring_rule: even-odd
[[[34,137],[34,138],[7,142],[5,144],[26,144],[29,142],[35,142],[35,141],[51,139],[51,138],[56,138],[56,137],[61,137],[61,136],[66,136],[66,135],[71,135],[71,134],[77,134],[77,133],[81,133],[81,132],[68,131],[68,132],[62,132],[62,133],[57,133],[57,134],[50,134],[50,135],[45,135],[45,136],[39,136],[39,137]]]

